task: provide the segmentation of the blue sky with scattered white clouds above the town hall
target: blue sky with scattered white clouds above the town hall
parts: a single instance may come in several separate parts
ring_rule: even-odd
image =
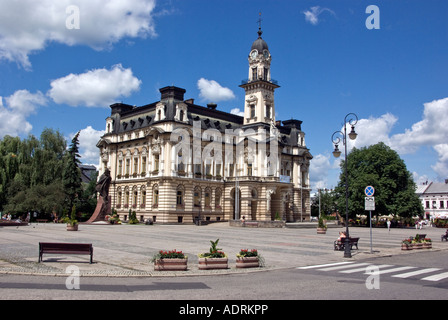
[[[369,5],[379,29],[366,27]],[[96,164],[110,103],[145,105],[175,85],[242,110],[259,12],[276,118],[303,121],[313,188],[337,183],[331,136],[350,112],[356,147],[384,141],[417,183],[448,178],[444,0],[2,0],[0,138],[82,130],[81,160]]]

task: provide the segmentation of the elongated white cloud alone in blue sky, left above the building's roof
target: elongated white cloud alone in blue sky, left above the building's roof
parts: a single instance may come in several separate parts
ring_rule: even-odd
[[[48,95],[59,104],[107,107],[119,97],[138,91],[140,84],[131,69],[118,64],[110,70],[94,69],[53,80]]]

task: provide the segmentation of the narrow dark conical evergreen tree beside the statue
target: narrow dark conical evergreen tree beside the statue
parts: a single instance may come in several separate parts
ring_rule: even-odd
[[[62,183],[68,208],[72,208],[82,194],[81,170],[79,169],[81,164],[79,158],[81,156],[78,150],[79,133],[80,131],[72,139],[70,148],[65,156],[65,166],[62,174]]]

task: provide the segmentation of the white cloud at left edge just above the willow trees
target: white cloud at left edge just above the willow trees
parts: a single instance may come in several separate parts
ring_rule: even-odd
[[[4,100],[6,105],[0,97],[0,138],[28,134],[33,126],[27,118],[36,112],[38,106],[47,103],[42,92],[30,93],[28,90],[18,90]]]

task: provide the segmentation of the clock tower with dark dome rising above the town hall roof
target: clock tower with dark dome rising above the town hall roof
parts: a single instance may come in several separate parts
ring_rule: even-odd
[[[258,28],[258,39],[249,53],[249,77],[240,85],[246,91],[244,99],[244,125],[275,124],[274,90],[279,88],[271,78],[271,53]]]

